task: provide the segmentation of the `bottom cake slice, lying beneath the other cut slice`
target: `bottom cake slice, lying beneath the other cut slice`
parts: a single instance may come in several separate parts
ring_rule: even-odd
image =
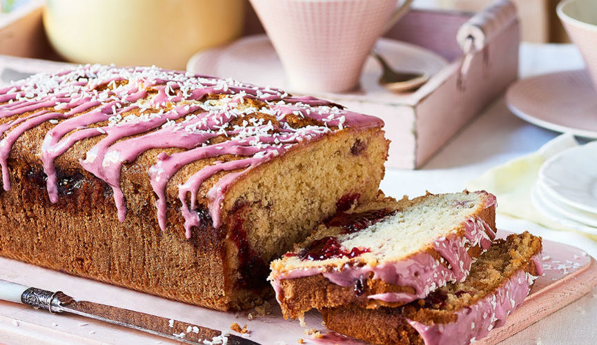
[[[542,275],[541,238],[498,239],[471,266],[465,282],[448,284],[400,308],[322,309],[326,327],[371,344],[464,345],[503,326]]]

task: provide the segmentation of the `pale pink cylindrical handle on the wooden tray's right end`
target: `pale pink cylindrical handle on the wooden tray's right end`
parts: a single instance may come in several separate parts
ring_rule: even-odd
[[[475,14],[460,26],[456,40],[464,52],[464,59],[458,73],[458,88],[464,90],[464,77],[476,52],[484,50],[491,39],[496,37],[512,21],[518,19],[516,6],[509,0],[497,0],[491,6]],[[484,64],[489,64],[489,55],[484,55]]]

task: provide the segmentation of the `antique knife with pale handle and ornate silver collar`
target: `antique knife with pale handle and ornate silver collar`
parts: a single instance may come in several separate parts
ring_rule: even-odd
[[[167,319],[137,311],[129,311],[115,306],[106,306],[86,301],[75,301],[61,291],[52,292],[39,288],[30,288],[0,279],[0,299],[27,304],[50,313],[72,313],[116,324],[137,331],[159,335],[188,344],[226,344],[226,345],[259,345],[237,335],[222,335],[222,332],[211,328],[188,324],[186,322]]]

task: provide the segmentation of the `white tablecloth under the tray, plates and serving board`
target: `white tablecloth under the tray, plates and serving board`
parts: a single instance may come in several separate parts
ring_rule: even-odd
[[[583,66],[578,50],[571,45],[523,43],[520,50],[520,77]],[[500,98],[422,169],[387,169],[381,188],[392,197],[415,197],[425,190],[431,193],[462,190],[467,181],[488,168],[534,152],[558,134],[518,119]],[[498,215],[496,221],[498,228],[515,232],[529,230],[545,239],[583,248],[597,257],[597,242],[578,233],[549,230],[503,215]],[[597,344],[597,289],[502,344]]]

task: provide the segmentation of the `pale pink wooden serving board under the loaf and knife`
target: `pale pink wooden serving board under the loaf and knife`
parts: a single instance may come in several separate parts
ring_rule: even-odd
[[[499,235],[505,236],[507,232],[500,230]],[[494,329],[476,344],[496,344],[574,302],[597,285],[597,264],[583,250],[549,241],[544,241],[543,246],[545,275],[536,280],[531,294],[510,315],[507,324]],[[298,344],[301,338],[306,343],[322,344],[321,340],[305,335],[299,322],[284,320],[274,301],[268,315],[260,316],[259,311],[252,311],[252,317],[249,312],[222,313],[5,258],[0,258],[0,279],[47,290],[63,290],[75,299],[111,304],[224,331],[230,331],[234,322],[240,326],[247,324],[251,331],[249,339],[264,345]],[[309,328],[325,333],[321,322],[317,312],[306,315]],[[0,343],[180,344],[83,317],[52,315],[10,302],[0,302]]]

